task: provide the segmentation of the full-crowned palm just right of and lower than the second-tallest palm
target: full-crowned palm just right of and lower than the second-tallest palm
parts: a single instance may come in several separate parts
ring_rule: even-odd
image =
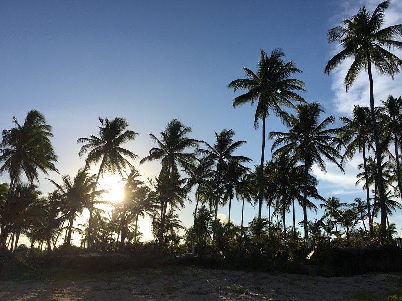
[[[320,114],[323,113],[318,102],[303,104],[296,106],[296,116],[289,115],[289,132],[271,132],[270,139],[276,139],[272,144],[272,150],[284,144],[272,154],[294,153],[305,166],[304,189],[303,189],[303,224],[304,234],[308,246],[311,247],[309,241],[309,233],[307,228],[307,192],[308,192],[308,175],[313,164],[317,164],[318,168],[326,171],[325,161],[335,163],[342,171],[342,166],[337,162],[341,156],[337,149],[331,144],[337,141],[339,129],[326,129],[328,125],[333,124],[335,118],[329,116],[319,122]]]

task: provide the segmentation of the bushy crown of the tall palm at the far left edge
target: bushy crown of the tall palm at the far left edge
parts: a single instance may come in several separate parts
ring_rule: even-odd
[[[36,110],[27,113],[24,124],[20,125],[13,117],[15,127],[3,130],[2,144],[0,144],[0,175],[8,172],[10,176],[9,191],[21,180],[23,172],[32,184],[38,181],[38,169],[44,174],[57,169],[54,162],[57,156],[54,153],[50,138],[52,127],[46,124],[45,117]]]

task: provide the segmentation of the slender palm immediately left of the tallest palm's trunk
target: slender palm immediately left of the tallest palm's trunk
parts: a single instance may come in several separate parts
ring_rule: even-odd
[[[362,153],[363,164],[364,164],[364,178],[366,183],[368,183],[366,148],[367,147],[371,148],[372,144],[372,142],[369,140],[369,137],[372,136],[370,109],[368,107],[355,105],[353,107],[352,119],[349,119],[347,117],[340,117],[339,119],[345,124],[340,128],[341,143],[346,145],[345,153],[342,156],[342,161],[352,159],[357,150],[360,153]],[[369,213],[370,189],[368,185],[366,185],[366,200],[367,200],[367,212]],[[373,227],[371,214],[368,214],[368,224],[371,232]]]

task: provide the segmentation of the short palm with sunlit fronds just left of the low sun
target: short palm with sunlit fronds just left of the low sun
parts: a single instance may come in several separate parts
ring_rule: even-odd
[[[64,245],[68,247],[71,242],[71,234],[75,218],[82,215],[84,208],[93,211],[94,204],[104,203],[103,201],[93,200],[106,191],[96,190],[95,175],[89,176],[86,168],[78,170],[72,181],[68,175],[63,175],[63,184],[57,184],[53,180],[50,181],[60,191],[60,200],[62,203],[61,208],[66,217],[68,217],[67,237],[64,242]]]

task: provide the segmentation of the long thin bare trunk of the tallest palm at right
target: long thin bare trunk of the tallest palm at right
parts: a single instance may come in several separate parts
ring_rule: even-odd
[[[373,84],[373,76],[371,74],[371,59],[370,56],[367,56],[367,72],[368,78],[370,81],[370,110],[371,110],[371,121],[373,123],[374,130],[374,141],[375,141],[375,157],[377,158],[377,181],[378,181],[378,192],[380,198],[380,206],[381,206],[381,225],[385,226],[386,223],[386,205],[385,205],[385,191],[384,184],[382,179],[382,153],[381,153],[381,144],[378,135],[378,125],[375,117],[375,107],[374,107],[374,84]]]

